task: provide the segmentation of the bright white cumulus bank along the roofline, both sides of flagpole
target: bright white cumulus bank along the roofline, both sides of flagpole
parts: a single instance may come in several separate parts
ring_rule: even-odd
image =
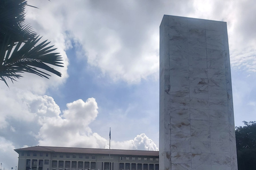
[[[98,105],[94,98],[85,102],[81,99],[67,104],[63,114],[52,117],[41,117],[42,125],[37,138],[41,146],[69,146],[106,148],[108,139],[98,133],[92,133],[90,123],[98,115]],[[158,150],[153,140],[146,134],[137,135],[133,140],[112,141],[113,149]]]

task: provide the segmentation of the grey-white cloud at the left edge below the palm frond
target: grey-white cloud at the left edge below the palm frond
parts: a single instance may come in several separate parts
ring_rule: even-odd
[[[2,88],[0,92],[4,96],[0,98],[0,136],[12,141],[14,146],[35,145],[33,136],[41,128],[38,120],[60,114],[59,106],[50,96],[18,88]]]

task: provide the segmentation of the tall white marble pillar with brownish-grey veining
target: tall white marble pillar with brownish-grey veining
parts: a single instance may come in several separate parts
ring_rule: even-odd
[[[159,169],[237,170],[227,23],[164,15]]]

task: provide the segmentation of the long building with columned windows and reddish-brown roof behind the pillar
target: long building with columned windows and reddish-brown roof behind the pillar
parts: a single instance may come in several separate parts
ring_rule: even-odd
[[[159,170],[159,152],[35,146],[15,149],[18,170]]]

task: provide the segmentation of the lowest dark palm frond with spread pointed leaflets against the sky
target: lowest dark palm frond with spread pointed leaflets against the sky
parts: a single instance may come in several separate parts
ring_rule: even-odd
[[[59,53],[51,53],[55,49],[52,49],[53,46],[46,47],[49,44],[47,41],[36,45],[39,39],[37,36],[25,41],[25,43],[19,42],[13,45],[12,48],[9,48],[6,51],[3,64],[0,66],[0,76],[8,77],[8,75],[29,72],[49,78],[50,74],[38,70],[42,69],[61,77],[61,73],[50,66],[63,67],[61,56]]]

